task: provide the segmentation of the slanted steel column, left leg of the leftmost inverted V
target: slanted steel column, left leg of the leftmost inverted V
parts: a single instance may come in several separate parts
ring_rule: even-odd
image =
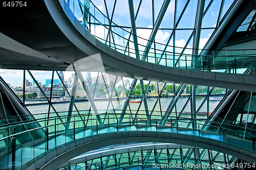
[[[73,80],[73,86],[72,86],[72,91],[71,91],[71,94],[70,94],[68,116],[67,116],[66,126],[65,126],[65,131],[66,132],[69,131],[71,115],[72,115],[73,106],[74,106],[74,102],[75,102],[77,82],[78,82],[78,78],[77,78],[77,75],[76,75],[76,72],[75,72],[75,76],[74,76],[74,80]]]

